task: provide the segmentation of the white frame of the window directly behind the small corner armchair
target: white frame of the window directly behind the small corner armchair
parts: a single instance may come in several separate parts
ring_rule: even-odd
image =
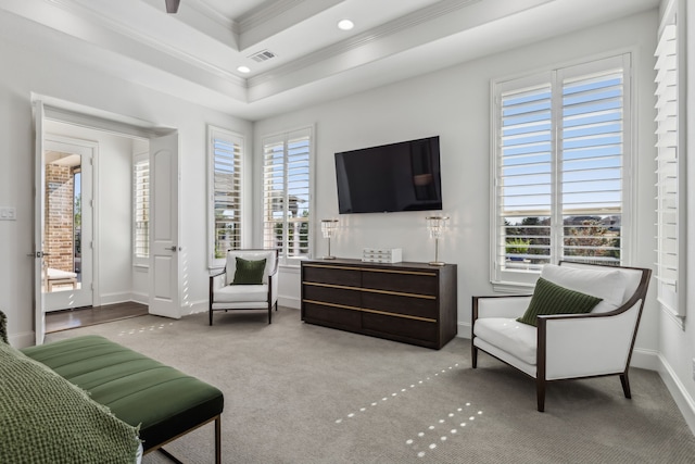
[[[210,269],[223,268],[226,265],[226,255],[216,258],[216,228],[215,228],[215,140],[220,139],[232,146],[238,146],[236,152],[238,159],[233,161],[236,172],[238,173],[236,192],[239,197],[238,204],[238,230],[239,236],[236,239],[237,246],[231,249],[242,248],[245,240],[244,231],[244,158],[245,158],[245,139],[243,135],[225,129],[223,127],[207,125],[207,266]],[[232,191],[233,192],[233,191]],[[226,254],[226,253],[225,253]]]

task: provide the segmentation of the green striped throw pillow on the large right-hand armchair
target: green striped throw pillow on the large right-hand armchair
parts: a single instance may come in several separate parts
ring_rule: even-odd
[[[593,310],[601,300],[603,298],[570,290],[540,277],[529,308],[517,321],[535,326],[535,316],[540,314],[584,314]]]

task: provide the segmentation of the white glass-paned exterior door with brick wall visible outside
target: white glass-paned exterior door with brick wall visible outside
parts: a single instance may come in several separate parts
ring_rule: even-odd
[[[92,159],[97,143],[46,135],[45,311],[91,306]]]

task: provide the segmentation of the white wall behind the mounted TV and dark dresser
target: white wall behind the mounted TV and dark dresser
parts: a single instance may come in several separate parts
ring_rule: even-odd
[[[261,138],[282,129],[316,124],[315,216],[338,217],[333,153],[439,135],[444,209],[450,228],[440,258],[458,265],[458,335],[469,337],[472,294],[492,292],[490,284],[490,83],[572,64],[592,58],[634,53],[636,231],[631,264],[654,263],[654,49],[657,12],[631,16],[469,63],[257,122],[255,180],[261,178]],[[261,196],[255,190],[254,199]],[[341,215],[331,241],[334,255],[358,259],[363,247],[403,248],[404,261],[431,261],[426,212]],[[256,217],[254,224],[260,222]],[[314,254],[326,242],[314,223]],[[260,234],[255,234],[260,239]],[[285,278],[285,277],[283,277]],[[299,301],[299,279],[290,301]],[[650,294],[639,333],[635,363],[656,368],[658,314]]]

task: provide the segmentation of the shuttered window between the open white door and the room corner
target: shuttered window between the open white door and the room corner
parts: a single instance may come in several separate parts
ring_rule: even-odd
[[[210,266],[225,265],[227,250],[241,248],[241,158],[243,138],[229,130],[208,127]]]

